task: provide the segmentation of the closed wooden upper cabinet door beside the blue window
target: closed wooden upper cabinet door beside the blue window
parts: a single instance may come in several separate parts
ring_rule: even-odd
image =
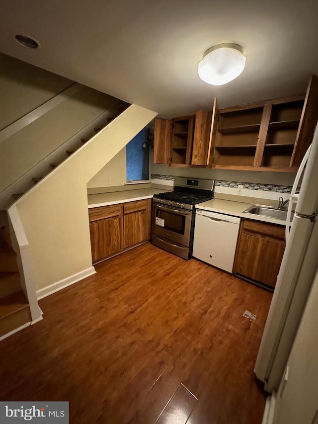
[[[172,121],[155,118],[154,164],[169,164],[171,156]]]

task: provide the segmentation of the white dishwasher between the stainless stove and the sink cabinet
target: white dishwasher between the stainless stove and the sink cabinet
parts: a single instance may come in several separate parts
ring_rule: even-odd
[[[192,255],[210,265],[232,272],[240,218],[203,209],[195,211]]]

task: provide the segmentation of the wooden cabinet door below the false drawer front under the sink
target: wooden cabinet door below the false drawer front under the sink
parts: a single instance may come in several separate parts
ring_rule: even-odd
[[[275,287],[285,244],[241,234],[234,272]]]

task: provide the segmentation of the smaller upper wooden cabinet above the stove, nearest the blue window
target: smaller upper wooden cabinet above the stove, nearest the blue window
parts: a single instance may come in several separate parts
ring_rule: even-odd
[[[155,119],[154,163],[176,167],[207,166],[211,112]]]

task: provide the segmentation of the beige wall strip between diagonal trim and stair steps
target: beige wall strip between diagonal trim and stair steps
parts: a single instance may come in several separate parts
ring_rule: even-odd
[[[0,143],[0,192],[117,101],[114,97],[84,87],[2,141]]]

